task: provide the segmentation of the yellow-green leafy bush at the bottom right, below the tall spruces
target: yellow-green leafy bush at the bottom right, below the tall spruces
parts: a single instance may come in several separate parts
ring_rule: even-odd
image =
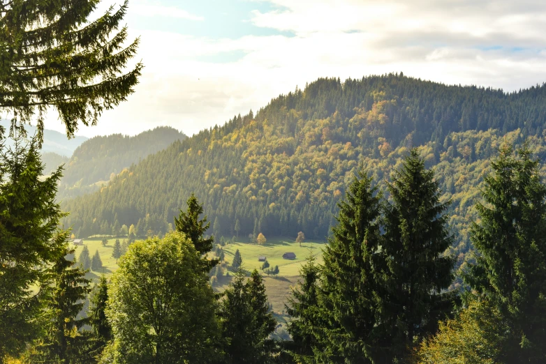
[[[455,319],[440,322],[438,333],[420,344],[414,360],[419,364],[506,363],[502,349],[509,332],[498,308],[487,301],[471,301]]]

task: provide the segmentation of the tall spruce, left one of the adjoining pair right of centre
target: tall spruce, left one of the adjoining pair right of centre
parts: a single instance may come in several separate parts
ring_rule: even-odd
[[[370,363],[372,349],[377,346],[374,329],[381,194],[371,183],[362,171],[353,177],[344,201],[339,203],[337,226],[324,251],[319,301],[325,327],[320,331],[304,328],[318,335],[324,349],[316,353],[320,363]]]

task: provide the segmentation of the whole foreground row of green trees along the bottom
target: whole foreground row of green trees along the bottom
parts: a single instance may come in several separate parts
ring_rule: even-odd
[[[208,257],[214,238],[193,195],[175,232],[129,245],[110,282],[101,278],[92,289],[87,317],[80,316],[91,289],[66,249],[68,232],[57,229],[60,175],[40,178],[32,146],[7,157],[0,203],[10,213],[0,215],[0,257],[15,264],[0,266],[3,361],[546,361],[546,185],[527,144],[517,153],[504,144],[485,175],[478,220],[469,227],[475,259],[457,290],[449,289],[451,202],[442,200],[418,149],[392,171],[388,197],[367,171],[353,176],[323,265],[311,255],[288,298],[290,341],[270,339],[276,321],[258,271],[239,266],[221,296],[212,291],[208,273],[219,261]],[[21,181],[24,195],[13,194]],[[29,291],[31,281],[43,284],[38,294]]]

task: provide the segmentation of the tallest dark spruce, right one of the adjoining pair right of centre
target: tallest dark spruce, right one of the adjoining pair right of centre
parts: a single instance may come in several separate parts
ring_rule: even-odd
[[[380,301],[381,328],[392,338],[385,345],[393,358],[436,331],[438,319],[452,310],[453,294],[443,294],[453,280],[455,263],[443,255],[452,243],[441,191],[434,172],[425,169],[412,149],[388,185],[392,204],[385,208],[385,239],[381,256],[387,296]]]

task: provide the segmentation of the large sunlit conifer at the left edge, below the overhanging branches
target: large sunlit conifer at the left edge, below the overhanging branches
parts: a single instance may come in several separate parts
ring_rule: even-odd
[[[55,202],[61,169],[42,178],[36,141],[21,143],[6,151],[0,142],[0,362],[38,333],[47,266],[64,255],[69,234],[58,229],[65,215]]]

